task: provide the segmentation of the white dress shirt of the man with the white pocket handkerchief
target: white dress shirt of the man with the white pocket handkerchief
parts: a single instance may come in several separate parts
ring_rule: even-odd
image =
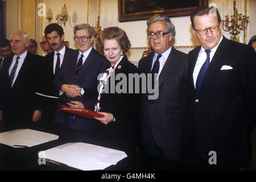
[[[223,37],[221,36],[220,42],[221,42],[222,39],[223,39]],[[214,53],[216,52],[220,42],[218,42],[217,46],[210,49],[210,61],[212,61]],[[203,67],[203,64],[206,61],[206,59],[207,59],[207,53],[205,52],[205,49],[201,46],[201,49],[199,51],[199,55],[198,55],[197,60],[196,60],[196,65],[195,65],[195,68],[194,68],[194,71],[193,71],[193,80],[194,80],[195,88],[196,88],[197,76],[199,75],[200,69],[201,69],[201,67]]]

